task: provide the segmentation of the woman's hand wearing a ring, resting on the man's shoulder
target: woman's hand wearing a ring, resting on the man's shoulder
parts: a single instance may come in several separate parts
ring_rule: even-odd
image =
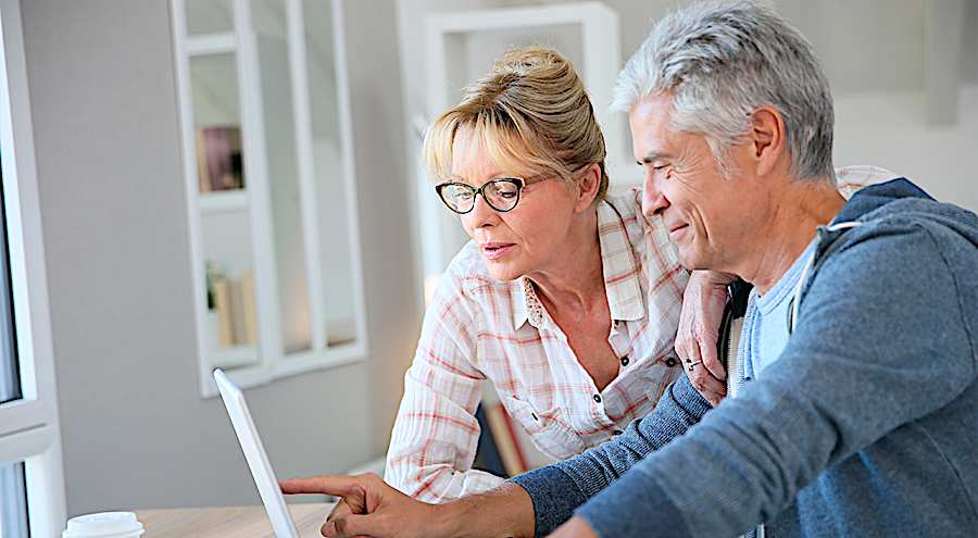
[[[727,396],[727,373],[716,353],[724,317],[727,284],[734,277],[710,271],[693,271],[682,295],[682,313],[676,334],[676,353],[682,360],[692,386],[714,406]]]

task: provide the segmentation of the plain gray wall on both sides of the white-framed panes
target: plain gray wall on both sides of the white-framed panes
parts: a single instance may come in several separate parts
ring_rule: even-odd
[[[281,476],[384,452],[419,326],[393,1],[344,3],[371,355],[248,391]],[[198,389],[168,2],[22,4],[68,513],[256,504]]]

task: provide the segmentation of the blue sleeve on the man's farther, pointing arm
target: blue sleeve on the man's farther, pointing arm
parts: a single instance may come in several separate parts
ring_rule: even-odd
[[[710,409],[710,403],[682,376],[669,386],[654,411],[632,421],[624,434],[569,460],[512,478],[532,499],[536,535],[547,536],[567,521],[574,509],[644,456],[682,435]]]

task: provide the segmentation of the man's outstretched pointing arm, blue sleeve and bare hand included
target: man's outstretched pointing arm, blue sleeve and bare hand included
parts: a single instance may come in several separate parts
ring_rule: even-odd
[[[685,376],[655,410],[611,441],[570,460],[531,471],[485,493],[428,504],[391,488],[376,475],[283,480],[286,493],[327,493],[343,502],[323,536],[380,538],[546,536],[574,509],[635,463],[681,435],[711,409]]]

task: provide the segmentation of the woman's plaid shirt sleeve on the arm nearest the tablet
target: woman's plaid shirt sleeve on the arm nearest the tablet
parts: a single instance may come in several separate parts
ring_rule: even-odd
[[[385,471],[388,484],[426,502],[447,502],[503,483],[472,470],[479,439],[475,411],[485,379],[472,363],[476,314],[457,283],[450,275],[442,278],[404,376]]]

